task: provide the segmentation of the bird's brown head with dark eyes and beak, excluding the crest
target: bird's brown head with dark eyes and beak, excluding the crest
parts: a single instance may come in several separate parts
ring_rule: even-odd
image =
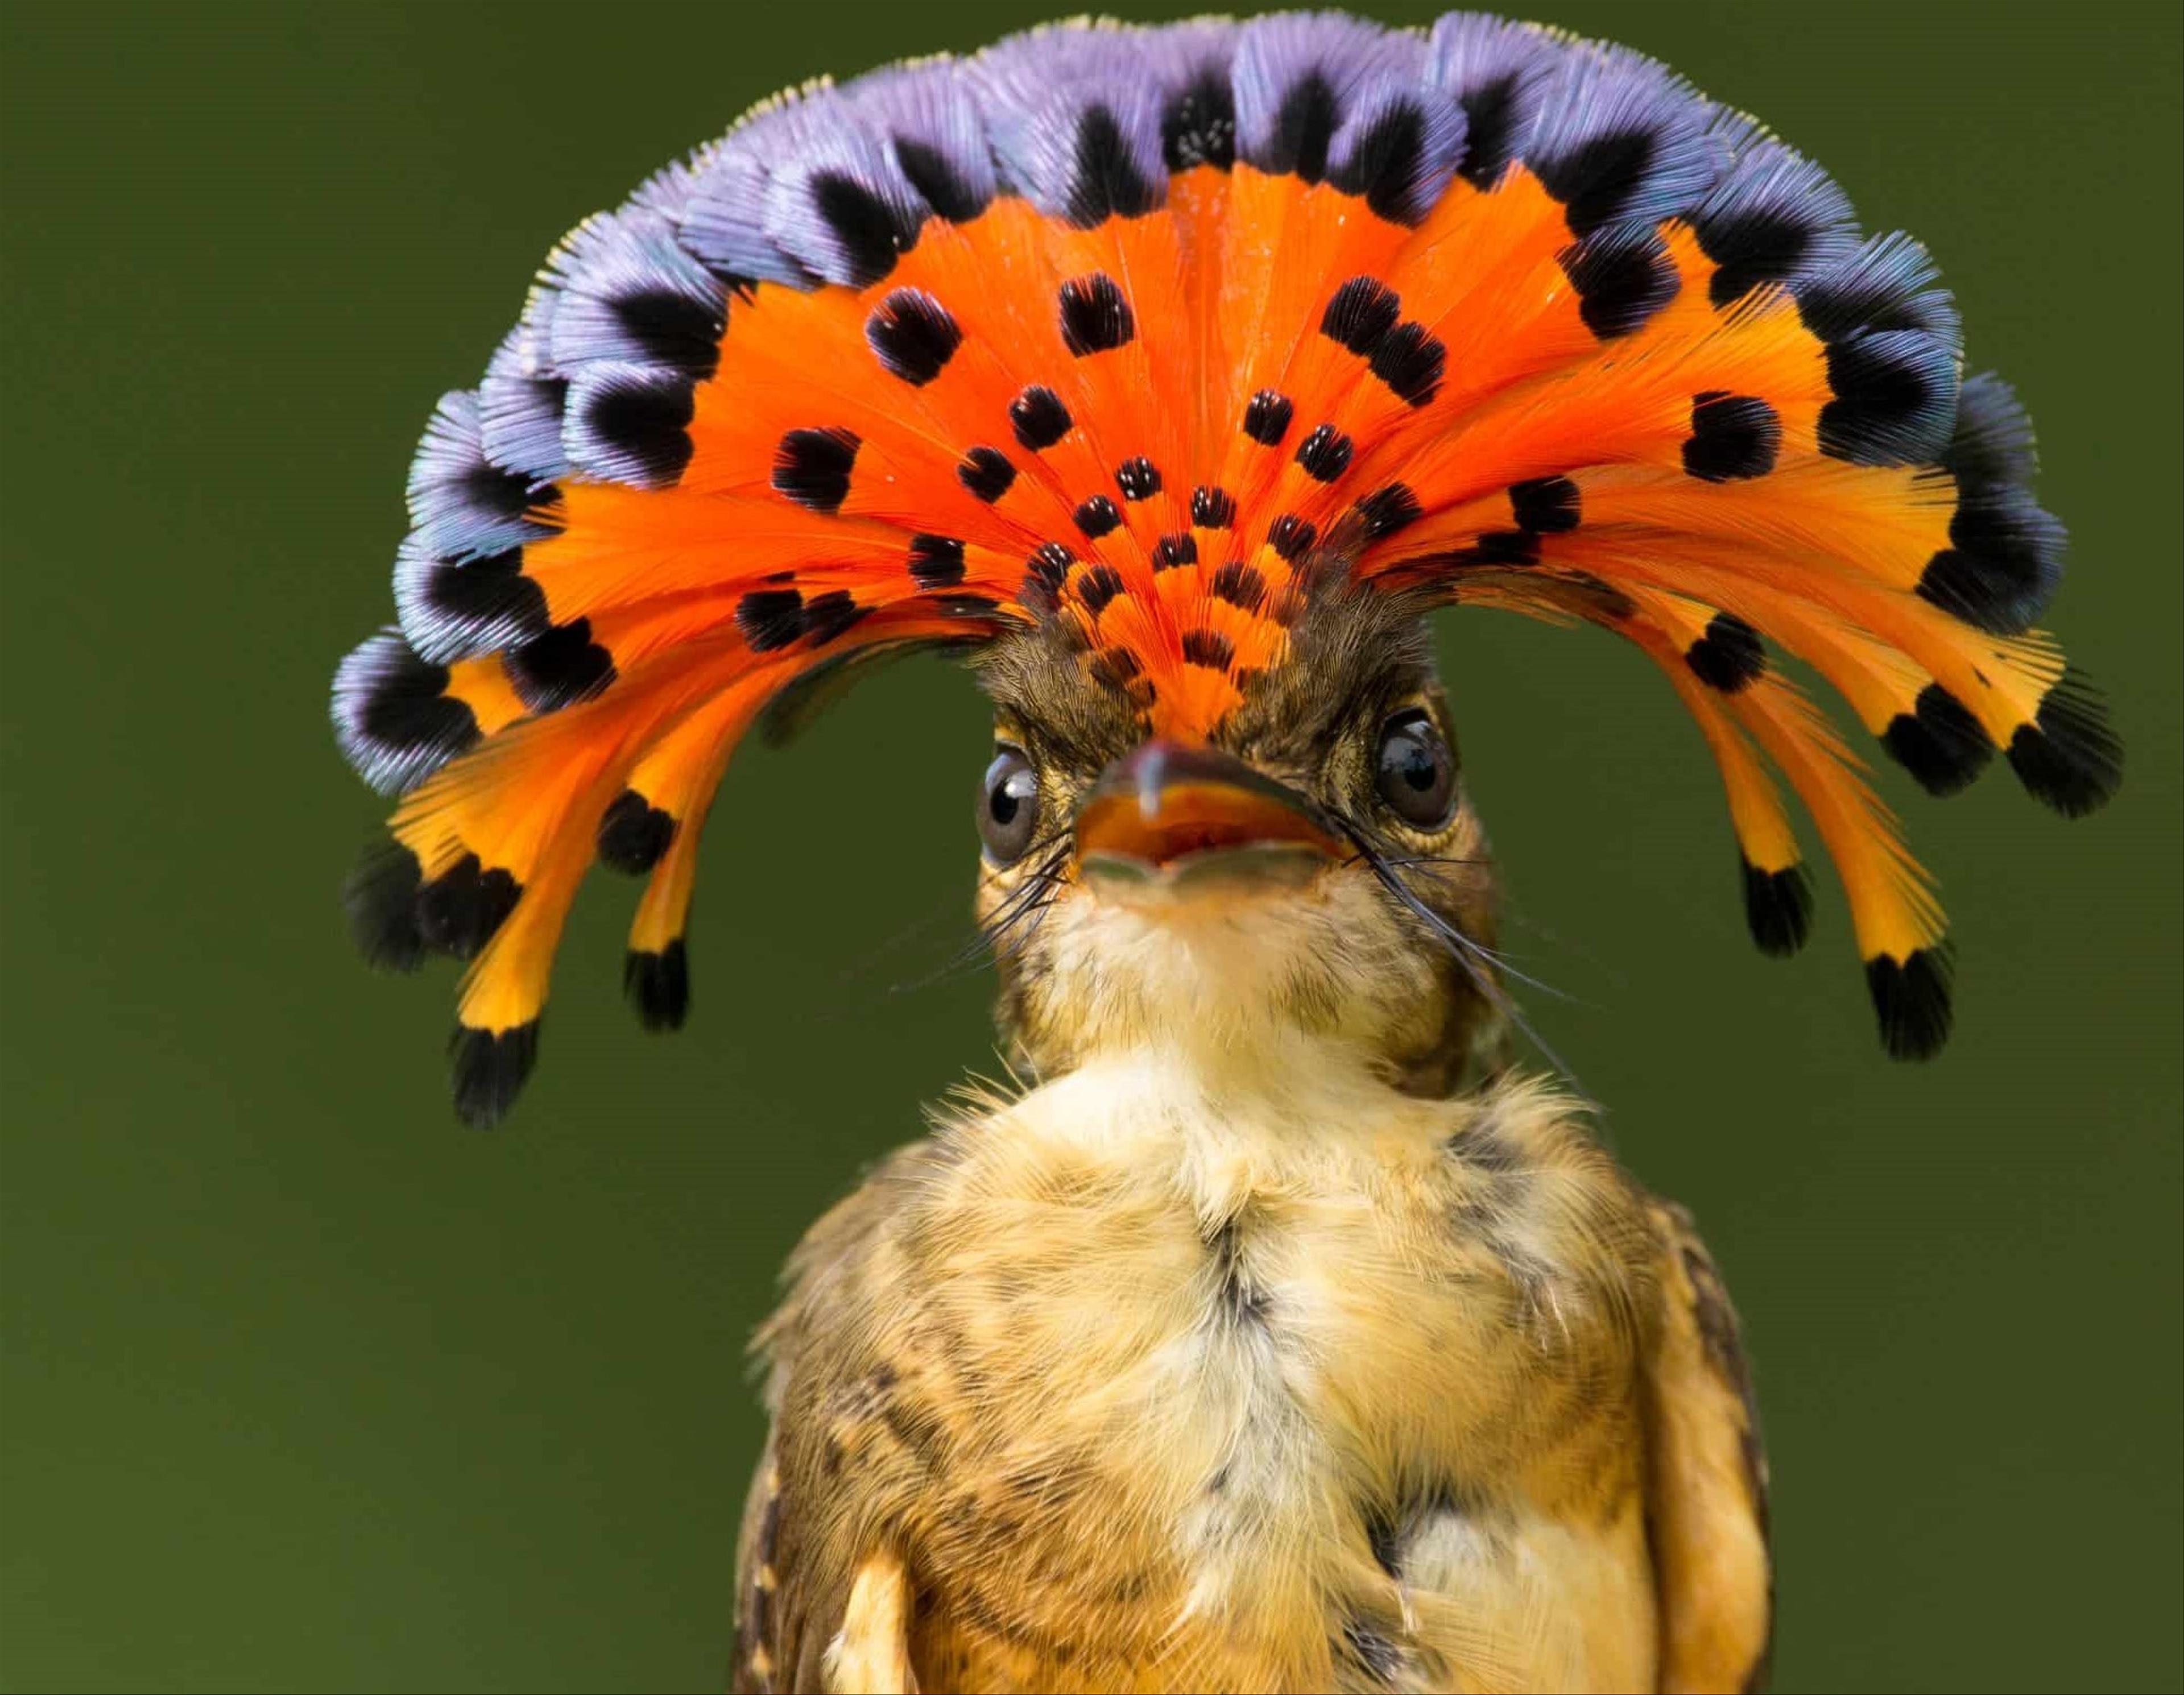
[[[978,920],[1035,1072],[1317,1035],[1437,1094],[1494,1044],[1494,874],[1424,620],[1326,596],[1291,655],[1212,725],[1131,710],[1066,642],[983,666]]]

